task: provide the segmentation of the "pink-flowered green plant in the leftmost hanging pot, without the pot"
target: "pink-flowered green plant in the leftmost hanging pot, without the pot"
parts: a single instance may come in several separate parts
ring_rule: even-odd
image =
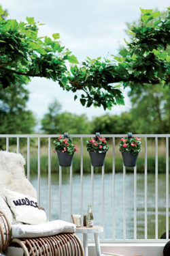
[[[67,152],[69,155],[72,155],[74,152],[78,152],[78,147],[75,146],[75,143],[73,143],[70,138],[60,136],[55,139],[54,145],[54,152]]]

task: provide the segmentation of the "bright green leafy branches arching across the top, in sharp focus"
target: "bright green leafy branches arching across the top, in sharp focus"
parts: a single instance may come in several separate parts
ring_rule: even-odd
[[[169,9],[169,8],[168,8]],[[132,26],[131,42],[126,42],[117,57],[110,59],[87,58],[78,63],[65,46],[59,42],[59,34],[52,38],[39,38],[39,23],[34,18],[27,22],[5,20],[0,8],[0,86],[15,86],[39,76],[58,81],[67,91],[81,92],[83,106],[103,106],[111,109],[115,104],[124,104],[123,87],[143,87],[145,84],[160,86],[169,84],[170,12],[160,18],[160,12],[141,9],[141,24]],[[151,22],[152,21],[152,22]],[[71,63],[70,70],[67,61]],[[119,85],[118,85],[118,84]]]

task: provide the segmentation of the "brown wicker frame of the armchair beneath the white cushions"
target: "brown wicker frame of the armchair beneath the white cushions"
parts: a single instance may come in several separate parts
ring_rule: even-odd
[[[1,154],[2,152],[0,152],[0,175],[2,174]],[[22,248],[24,256],[84,256],[82,242],[75,233],[59,233],[38,238],[12,238],[10,221],[0,210],[0,254],[7,253],[7,248],[14,247]],[[18,256],[18,254],[14,256]]]

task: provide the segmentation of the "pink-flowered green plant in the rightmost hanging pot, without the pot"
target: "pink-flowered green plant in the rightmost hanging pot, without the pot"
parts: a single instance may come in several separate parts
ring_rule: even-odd
[[[133,155],[141,152],[141,138],[122,138],[120,140],[120,152],[128,152]]]

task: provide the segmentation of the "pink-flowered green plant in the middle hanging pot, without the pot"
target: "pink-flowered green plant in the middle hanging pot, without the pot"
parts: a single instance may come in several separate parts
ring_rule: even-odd
[[[97,137],[96,139],[92,138],[90,141],[86,141],[86,147],[88,152],[95,153],[103,153],[109,150],[107,141],[102,137]]]

